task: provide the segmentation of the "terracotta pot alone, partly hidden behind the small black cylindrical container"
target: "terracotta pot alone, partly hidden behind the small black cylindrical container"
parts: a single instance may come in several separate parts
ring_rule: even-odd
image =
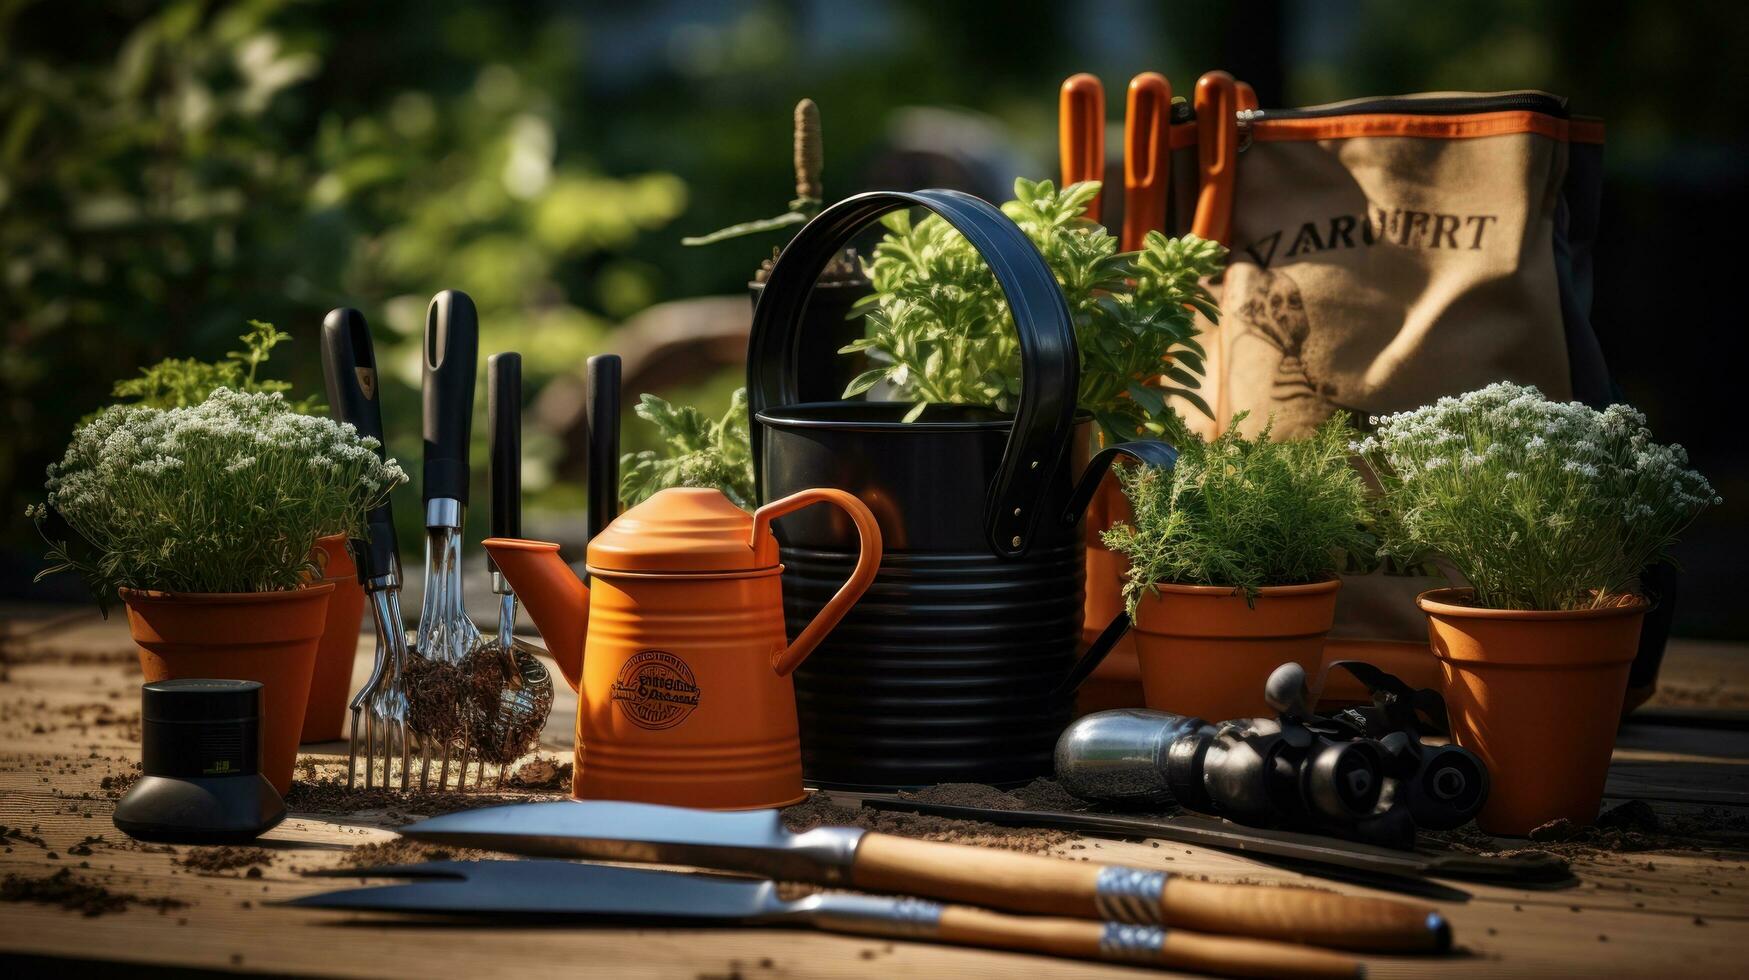
[[[121,590],[147,682],[185,677],[261,682],[261,774],[282,796],[292,788],[310,674],[332,593],[332,583],[294,592]]]

